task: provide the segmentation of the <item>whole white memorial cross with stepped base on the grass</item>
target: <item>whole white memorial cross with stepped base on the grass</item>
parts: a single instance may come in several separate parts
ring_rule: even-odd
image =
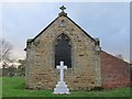
[[[56,88],[54,88],[53,94],[70,94],[67,85],[64,81],[64,69],[67,69],[67,66],[64,66],[64,62],[61,62],[61,66],[57,66],[57,69],[59,69],[59,81],[57,82]]]

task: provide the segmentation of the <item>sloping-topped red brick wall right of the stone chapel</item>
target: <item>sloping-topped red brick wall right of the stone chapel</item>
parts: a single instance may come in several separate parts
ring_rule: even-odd
[[[101,51],[102,88],[119,88],[130,86],[130,65]]]

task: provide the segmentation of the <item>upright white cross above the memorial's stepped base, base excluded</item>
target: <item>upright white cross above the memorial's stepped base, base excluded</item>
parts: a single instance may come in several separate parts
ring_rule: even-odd
[[[64,81],[64,69],[67,69],[67,66],[64,66],[64,62],[61,62],[61,66],[57,66],[59,69],[59,81]]]

